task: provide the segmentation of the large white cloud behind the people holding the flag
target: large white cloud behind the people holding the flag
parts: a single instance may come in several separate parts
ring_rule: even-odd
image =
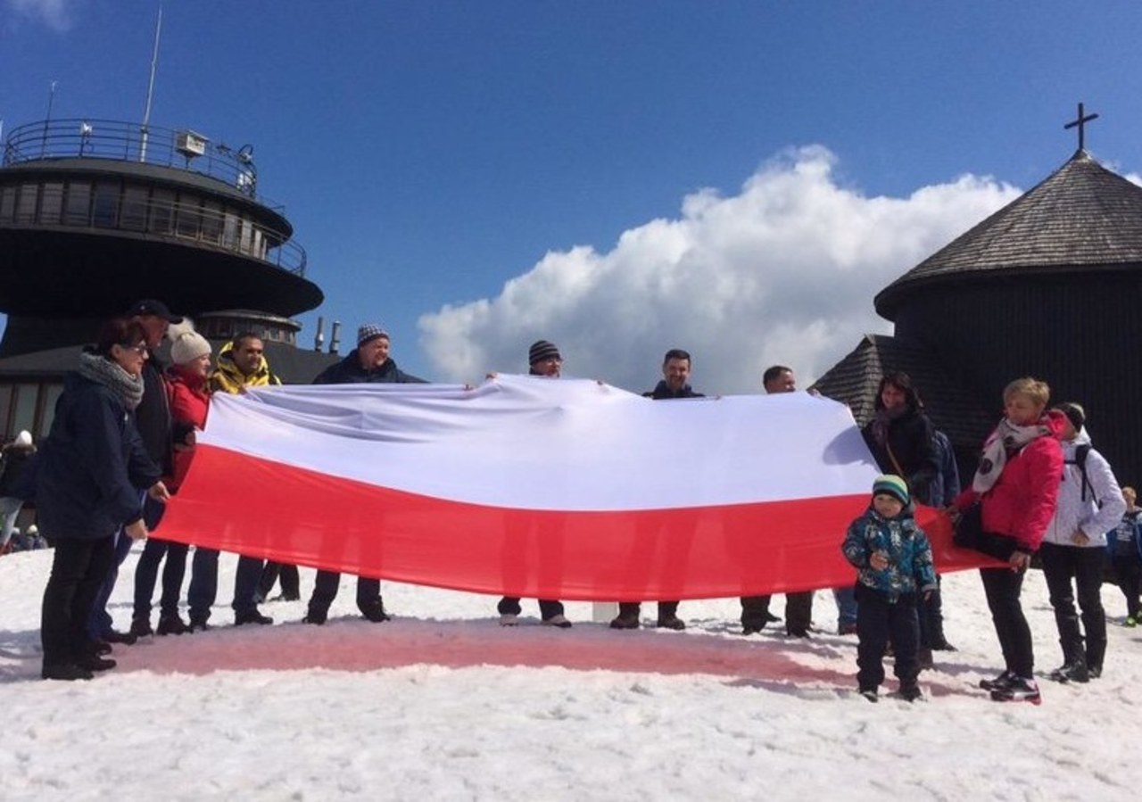
[[[1011,202],[1019,190],[963,176],[908,198],[839,185],[820,146],[763,165],[732,197],[702,190],[677,219],[625,232],[610,251],[549,252],[491,299],[420,318],[437,371],[474,380],[525,371],[526,350],[556,343],[565,375],[649,390],[667,348],[694,358],[693,385],[751,393],[775,362],[802,385],[864,332],[888,332],[872,297]]]

